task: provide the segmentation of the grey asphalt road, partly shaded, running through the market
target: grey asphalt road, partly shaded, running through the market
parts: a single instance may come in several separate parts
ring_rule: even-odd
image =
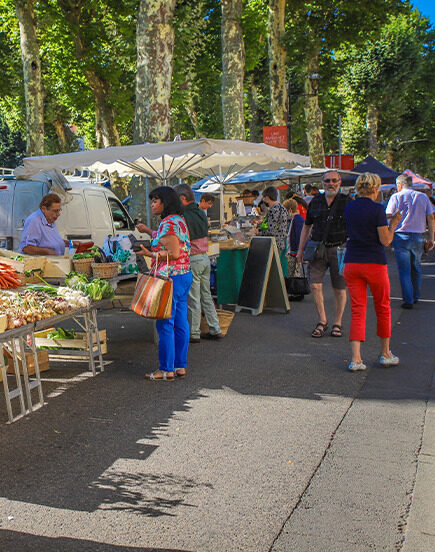
[[[237,314],[172,383],[144,381],[150,323],[103,311],[103,374],[53,365],[47,404],[12,425],[0,401],[0,550],[434,550],[434,255],[424,273],[416,308],[392,299],[396,368],[377,365],[370,305],[366,373],[345,371],[346,338],[310,337],[311,297]]]

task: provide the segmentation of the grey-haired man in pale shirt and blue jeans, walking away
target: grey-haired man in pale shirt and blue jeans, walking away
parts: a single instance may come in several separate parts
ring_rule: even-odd
[[[420,299],[421,256],[426,224],[429,228],[427,248],[430,251],[434,247],[432,213],[435,209],[426,194],[412,189],[410,176],[398,176],[396,186],[398,193],[391,196],[386,213],[387,218],[391,218],[398,210],[402,214],[394,233],[393,247],[402,287],[402,308],[412,309],[413,304]]]

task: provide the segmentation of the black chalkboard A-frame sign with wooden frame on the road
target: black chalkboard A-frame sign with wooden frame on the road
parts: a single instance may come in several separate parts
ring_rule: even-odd
[[[257,315],[264,307],[290,310],[275,238],[257,236],[249,247],[236,312]]]

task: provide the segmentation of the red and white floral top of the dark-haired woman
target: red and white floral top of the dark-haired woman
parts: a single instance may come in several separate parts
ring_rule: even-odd
[[[169,261],[169,274],[166,260],[159,261],[157,275],[159,276],[178,276],[190,272],[190,237],[186,222],[179,215],[168,215],[159,225],[157,235],[151,241],[152,251],[165,251],[161,239],[164,236],[177,236],[180,242],[180,256],[175,261]],[[155,260],[152,264],[154,270]]]

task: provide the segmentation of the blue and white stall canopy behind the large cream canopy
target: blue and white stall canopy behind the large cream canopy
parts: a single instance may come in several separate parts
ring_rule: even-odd
[[[251,190],[261,190],[266,182],[276,182],[279,189],[287,189],[289,184],[296,184],[301,187],[307,182],[318,182],[322,180],[325,172],[331,169],[317,169],[315,167],[297,166],[292,169],[279,169],[277,171],[248,171],[238,174],[225,181],[225,190],[240,192],[241,188],[249,187]],[[353,175],[352,171],[337,170],[342,175]],[[357,176],[357,175],[356,175]],[[220,182],[215,178],[204,178],[196,182],[192,188],[199,193],[213,193],[219,191]]]

